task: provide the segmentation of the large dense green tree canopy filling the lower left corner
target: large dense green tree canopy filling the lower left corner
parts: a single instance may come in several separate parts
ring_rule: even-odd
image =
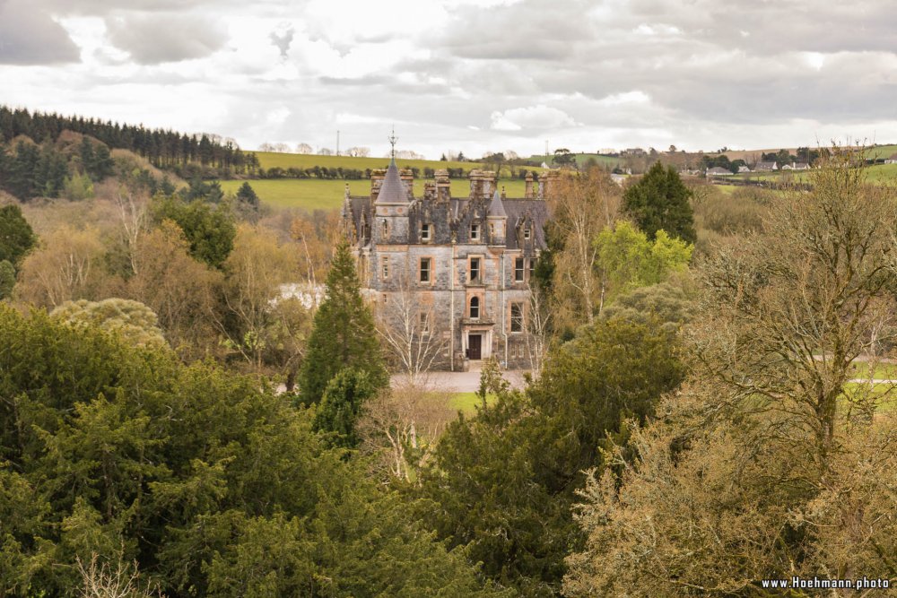
[[[169,596],[507,595],[257,379],[40,313],[0,330],[0,595],[82,595],[94,557]]]

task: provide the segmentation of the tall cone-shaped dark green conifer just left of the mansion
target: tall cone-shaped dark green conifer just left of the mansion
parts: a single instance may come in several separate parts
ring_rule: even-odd
[[[343,368],[366,372],[373,388],[388,385],[374,318],[361,299],[355,263],[345,241],[336,247],[327,273],[327,299],[315,314],[300,372],[301,401],[318,403],[327,383]]]

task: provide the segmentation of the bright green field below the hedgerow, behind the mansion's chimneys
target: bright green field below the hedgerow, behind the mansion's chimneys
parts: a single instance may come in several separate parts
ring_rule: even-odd
[[[330,156],[315,157],[327,158]],[[333,210],[342,207],[346,183],[349,184],[349,193],[352,195],[370,194],[370,180],[264,178],[245,182],[252,186],[262,202],[274,208],[300,208],[312,211]],[[241,180],[222,180],[222,190],[225,193],[236,193],[243,183],[244,181]],[[422,178],[414,180],[415,196],[423,195],[423,183]],[[498,186],[500,189],[504,186],[509,197],[523,197],[526,183],[518,178],[500,179]],[[470,194],[470,182],[466,179],[452,179],[451,193],[456,197],[466,197]]]

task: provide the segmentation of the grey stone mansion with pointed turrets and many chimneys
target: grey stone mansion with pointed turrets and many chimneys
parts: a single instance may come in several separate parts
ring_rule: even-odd
[[[529,278],[545,245],[544,196],[554,175],[527,175],[525,196],[512,199],[496,188],[495,173],[472,170],[469,195],[452,197],[448,171],[436,170],[414,197],[411,171],[391,160],[372,173],[370,195],[347,187],[344,230],[375,316],[404,326],[414,337],[408,345],[437,340],[435,368],[466,369],[492,356],[528,368]]]

